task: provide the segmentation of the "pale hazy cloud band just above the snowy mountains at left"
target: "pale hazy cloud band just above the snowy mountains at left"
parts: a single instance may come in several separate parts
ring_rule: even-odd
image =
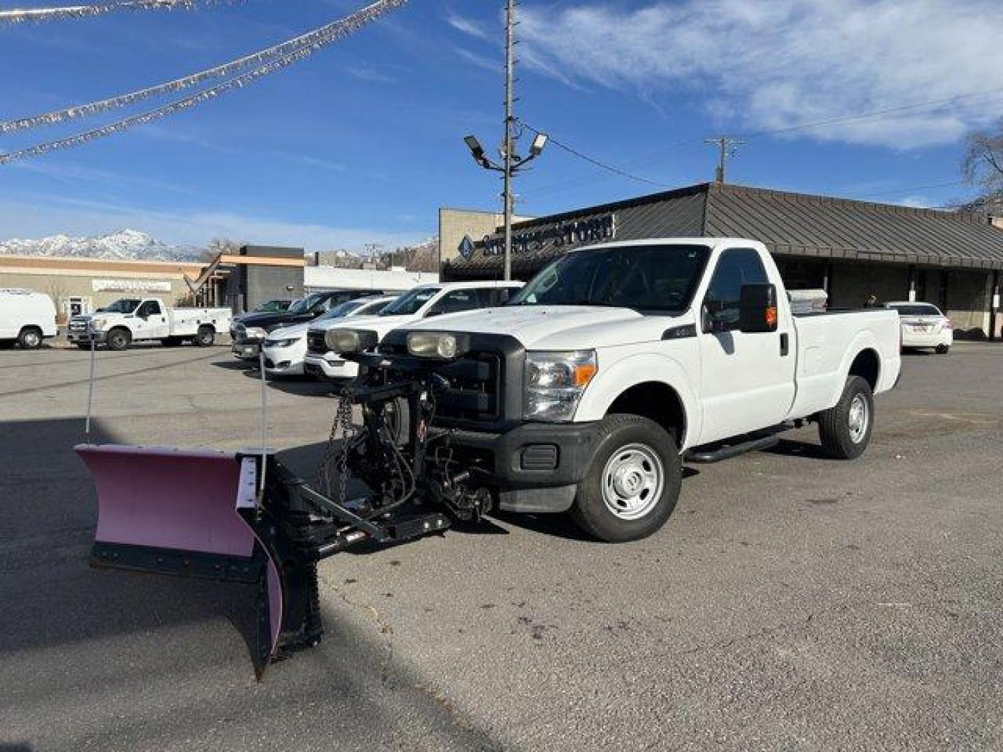
[[[153,212],[47,195],[33,196],[25,203],[0,202],[0,227],[7,238],[60,233],[90,236],[128,228],[177,245],[203,246],[213,238],[225,237],[262,245],[302,246],[307,251],[362,250],[366,243],[396,248],[429,236],[427,232],[332,227],[232,212]]]

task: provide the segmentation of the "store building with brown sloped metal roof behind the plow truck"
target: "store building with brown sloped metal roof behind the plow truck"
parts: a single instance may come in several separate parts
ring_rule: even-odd
[[[872,296],[923,300],[947,311],[962,334],[999,334],[1003,229],[976,213],[705,182],[518,223],[513,274],[529,279],[582,246],[671,237],[755,239],[788,286],[824,288],[834,308]],[[441,250],[443,276],[499,277],[499,229],[464,240]]]

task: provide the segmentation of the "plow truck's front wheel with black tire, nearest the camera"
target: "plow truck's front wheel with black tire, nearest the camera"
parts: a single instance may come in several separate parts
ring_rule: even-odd
[[[637,482],[643,483],[645,474],[649,477],[651,473],[661,475],[661,491],[656,485],[654,490],[648,489],[656,497],[646,497],[642,489],[635,494],[641,508],[633,511],[629,504],[635,502],[623,498],[626,495],[620,493],[623,488],[612,479],[617,471],[611,463],[618,461],[618,454],[621,455],[620,475],[626,485],[636,487]],[[632,459],[625,460],[627,457]],[[640,415],[607,415],[599,426],[592,464],[585,479],[579,483],[571,515],[579,527],[600,540],[637,540],[665,524],[676,507],[681,485],[682,462],[676,442],[668,431]],[[619,512],[614,512],[612,507],[617,507]],[[637,516],[632,516],[634,513]]]

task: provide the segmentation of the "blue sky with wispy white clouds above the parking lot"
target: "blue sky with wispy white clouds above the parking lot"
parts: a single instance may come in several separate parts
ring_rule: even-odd
[[[131,228],[183,244],[392,247],[433,235],[441,206],[494,209],[499,182],[461,138],[500,136],[500,5],[412,0],[254,85],[0,165],[0,239]],[[0,27],[0,119],[176,78],[359,6],[249,0]],[[725,132],[747,136],[732,182],[944,205],[970,194],[943,184],[960,179],[964,133],[1003,116],[997,0],[526,0],[520,13],[519,114],[666,187],[710,178],[702,138]],[[2,134],[0,151],[148,106]],[[659,187],[552,145],[517,190],[521,214],[543,215]]]

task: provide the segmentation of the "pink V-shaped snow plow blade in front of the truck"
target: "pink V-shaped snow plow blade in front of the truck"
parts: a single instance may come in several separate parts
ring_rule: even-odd
[[[206,449],[74,448],[97,486],[91,563],[257,584],[260,677],[279,646],[283,587],[272,553],[249,524],[256,460]]]

